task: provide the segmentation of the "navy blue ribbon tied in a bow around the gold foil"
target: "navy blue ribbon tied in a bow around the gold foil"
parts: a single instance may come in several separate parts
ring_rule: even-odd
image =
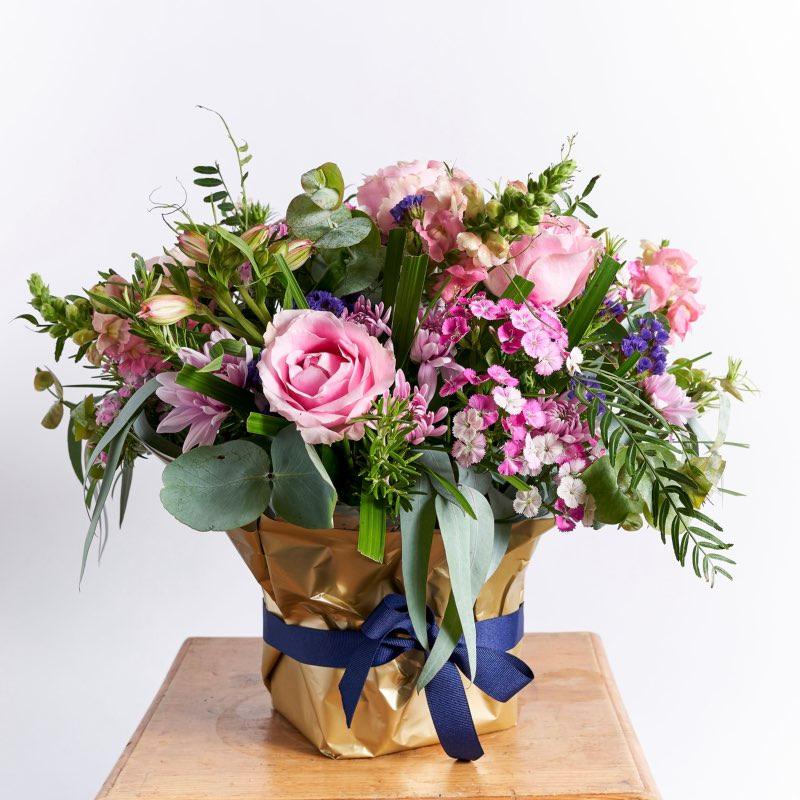
[[[506,652],[523,634],[519,610],[475,625],[477,668],[474,683],[487,695],[506,702],[533,680],[528,665]],[[439,628],[428,610],[428,641],[436,641]],[[378,667],[408,650],[425,648],[414,634],[403,595],[390,594],[378,603],[358,630],[318,630],[287,625],[264,609],[264,641],[302,664],[344,669],[339,682],[347,727],[372,667]],[[467,704],[459,670],[469,676],[467,648],[461,638],[449,660],[425,687],[431,719],[445,752],[459,761],[475,761],[483,748]]]

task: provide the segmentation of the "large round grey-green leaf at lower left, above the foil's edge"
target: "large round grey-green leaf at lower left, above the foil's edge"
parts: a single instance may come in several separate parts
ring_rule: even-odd
[[[236,439],[196,447],[164,468],[161,502],[196,531],[227,531],[257,519],[269,503],[269,457]]]

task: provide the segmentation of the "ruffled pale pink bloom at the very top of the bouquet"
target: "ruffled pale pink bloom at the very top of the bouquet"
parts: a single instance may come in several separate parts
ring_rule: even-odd
[[[461,219],[467,206],[463,188],[469,182],[464,172],[450,173],[441,161],[400,161],[364,179],[358,204],[384,233],[397,226],[392,209],[409,195],[425,194],[426,213],[449,211]]]

